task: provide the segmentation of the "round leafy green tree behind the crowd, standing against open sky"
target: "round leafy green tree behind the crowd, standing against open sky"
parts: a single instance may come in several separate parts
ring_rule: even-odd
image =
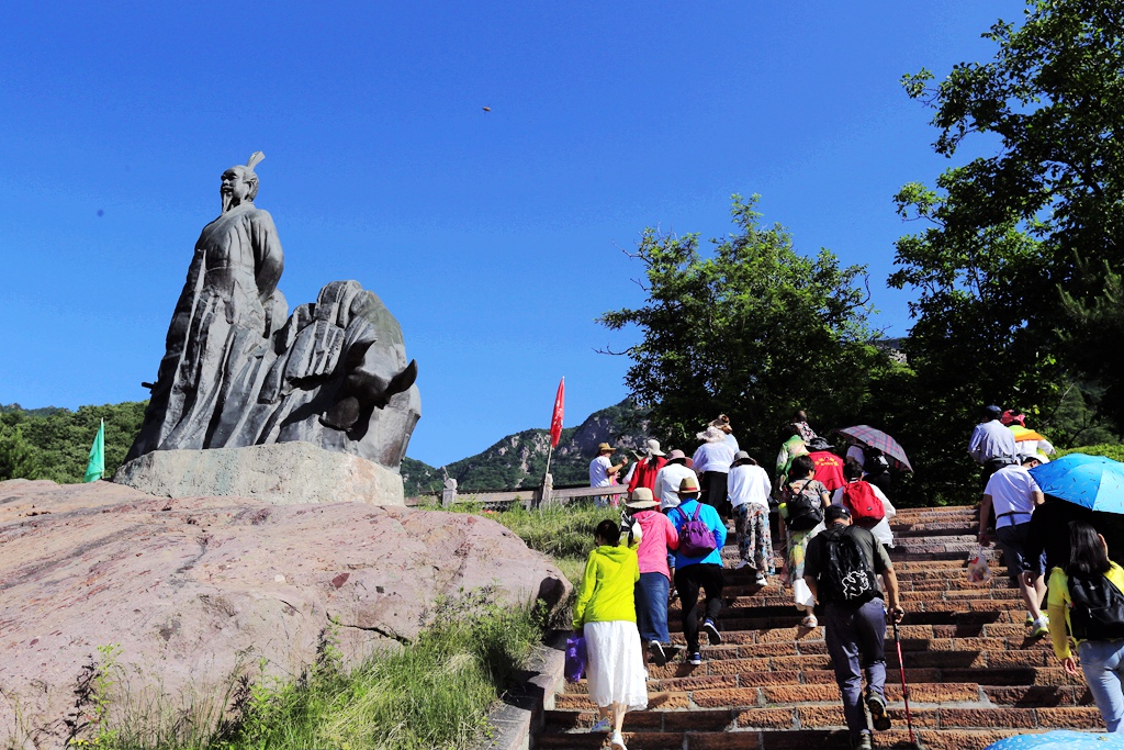
[[[644,265],[643,307],[606,313],[610,329],[635,325],[626,353],[633,398],[652,428],[685,445],[707,421],[731,416],[738,441],[771,460],[796,408],[842,426],[870,401],[890,364],[870,342],[865,266],[841,268],[827,250],[797,253],[780,225],[764,226],[756,197],[733,197],[736,232],[711,240],[645,229],[632,255]],[[768,461],[763,461],[768,464]]]

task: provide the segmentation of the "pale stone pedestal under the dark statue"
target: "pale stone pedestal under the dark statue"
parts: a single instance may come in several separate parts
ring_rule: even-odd
[[[397,471],[303,442],[153,451],[118,469],[114,481],[164,497],[236,495],[272,505],[406,505]]]

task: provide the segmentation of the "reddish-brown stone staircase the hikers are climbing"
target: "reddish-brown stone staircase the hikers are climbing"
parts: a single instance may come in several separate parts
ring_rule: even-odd
[[[972,750],[1012,734],[1103,729],[1084,679],[1066,675],[1049,636],[1027,638],[1025,611],[1006,569],[994,566],[989,584],[968,582],[964,561],[976,549],[976,526],[973,509],[961,507],[903,509],[895,518],[890,557],[907,613],[898,631],[916,746],[909,743],[897,650],[887,629],[894,728],[874,733],[876,748]],[[649,708],[625,719],[628,749],[849,748],[823,627],[799,626],[791,591],[776,578],[760,588],[732,570],[733,534],[723,557],[723,643],[704,645],[697,667],[650,666]],[[682,643],[678,605],[669,624],[672,640]],[[588,731],[596,714],[584,681],[568,684],[532,747],[607,747],[608,735]]]

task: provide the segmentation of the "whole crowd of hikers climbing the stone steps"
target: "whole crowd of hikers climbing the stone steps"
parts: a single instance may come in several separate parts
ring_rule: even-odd
[[[709,645],[722,643],[722,550],[733,531],[733,568],[745,569],[762,588],[773,586],[780,572],[776,582],[791,590],[800,625],[823,624],[852,747],[871,748],[871,729],[890,726],[883,695],[887,623],[896,638],[905,615],[888,553],[895,545],[892,459],[853,439],[836,454],[804,412],[785,426],[771,472],[740,449],[725,415],[707,424],[698,440],[690,457],[682,450],[664,453],[649,440],[627,470],[627,458],[614,463],[614,449],[602,443],[590,466],[591,484],[616,476],[628,485],[620,521],[604,521],[595,531],[597,548],[574,606],[573,629],[588,652],[589,694],[599,707],[592,731],[609,733],[610,746],[625,750],[625,713],[647,705],[647,665],[662,667],[680,656],[700,665],[701,635]],[[1044,496],[1030,470],[1048,462],[1053,446],[1014,410],[987,407],[968,451],[984,475],[981,549],[992,541],[1001,549],[1026,605],[1027,638],[1049,633],[1071,675],[1078,671],[1071,652],[1077,647],[1105,724],[1117,731],[1124,719],[1124,570],[1112,558],[1124,546],[1112,540],[1124,542],[1124,515]],[[772,523],[785,546],[780,571]],[[682,647],[668,632],[677,598]],[[1090,624],[1088,612],[1097,603],[1100,614]]]

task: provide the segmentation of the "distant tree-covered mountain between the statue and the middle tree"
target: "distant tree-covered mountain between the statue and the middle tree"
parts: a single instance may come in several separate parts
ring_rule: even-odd
[[[629,460],[647,440],[647,418],[628,399],[607,409],[595,412],[577,427],[562,431],[562,439],[551,459],[554,486],[584,485],[589,481],[589,462],[597,455],[599,443],[627,450]],[[456,480],[461,491],[488,491],[536,487],[546,471],[550,431],[525,430],[504,437],[488,450],[450,463],[443,468],[406,459],[402,480],[406,496],[439,491],[445,478]]]

